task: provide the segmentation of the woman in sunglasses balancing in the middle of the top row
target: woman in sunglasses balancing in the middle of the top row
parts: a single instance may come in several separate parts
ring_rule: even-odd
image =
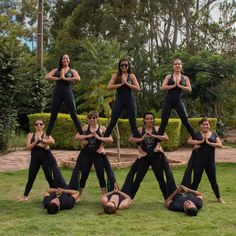
[[[104,137],[111,135],[114,126],[123,109],[126,110],[132,134],[138,137],[136,126],[136,103],[133,91],[140,91],[136,76],[131,71],[130,63],[127,59],[121,59],[118,64],[118,72],[113,74],[107,88],[116,89],[116,100],[112,107],[111,121],[108,125]]]

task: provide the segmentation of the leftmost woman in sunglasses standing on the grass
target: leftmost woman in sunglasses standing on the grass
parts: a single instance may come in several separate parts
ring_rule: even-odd
[[[42,119],[37,119],[35,121],[35,132],[29,133],[27,137],[26,149],[31,151],[31,160],[28,173],[28,181],[25,187],[24,196],[21,201],[27,201],[28,195],[32,186],[34,184],[35,178],[38,174],[40,166],[42,166],[46,180],[49,186],[52,188],[54,182],[52,179],[52,171],[48,163],[48,149],[49,144],[54,143],[54,139],[49,136],[45,138],[44,134],[44,121]]]

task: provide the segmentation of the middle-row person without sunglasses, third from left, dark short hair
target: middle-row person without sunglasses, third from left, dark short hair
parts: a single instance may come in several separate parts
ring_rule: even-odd
[[[159,183],[163,197],[166,199],[172,192],[171,189],[175,188],[175,186],[171,185],[175,185],[175,183],[163,151],[161,148],[158,150],[156,147],[158,146],[159,141],[167,141],[168,136],[166,134],[158,135],[158,127],[154,125],[154,114],[151,112],[144,114],[144,127],[140,127],[139,132],[141,138],[130,138],[131,142],[141,142],[139,151],[142,153],[141,159],[135,162],[135,164],[138,164],[135,169],[136,177],[131,184],[131,198],[134,198],[139,189],[140,183],[149,169],[149,166],[151,166]],[[165,170],[167,182],[169,184],[166,184],[165,182],[163,170]]]

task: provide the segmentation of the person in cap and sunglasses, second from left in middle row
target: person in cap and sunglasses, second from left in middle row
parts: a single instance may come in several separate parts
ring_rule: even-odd
[[[99,185],[102,194],[106,193],[106,181],[104,177],[104,168],[111,179],[111,184],[114,186],[115,176],[111,170],[110,163],[107,156],[103,153],[99,153],[101,142],[112,142],[111,136],[103,137],[106,128],[98,125],[98,114],[95,111],[89,112],[88,125],[83,126],[83,135],[77,133],[75,139],[85,142],[84,148],[81,150],[78,158],[81,159],[81,179],[80,179],[80,195],[83,192],[86,181],[89,176],[89,172],[94,164]]]

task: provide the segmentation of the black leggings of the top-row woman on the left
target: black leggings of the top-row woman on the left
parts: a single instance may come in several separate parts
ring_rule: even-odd
[[[76,114],[74,95],[71,90],[62,90],[62,89],[59,91],[55,91],[55,93],[53,95],[51,117],[50,117],[50,121],[48,124],[46,134],[48,136],[51,134],[52,129],[54,127],[54,123],[57,119],[59,109],[60,109],[63,102],[65,102],[65,105],[70,113],[71,119],[74,122],[76,130],[80,134],[82,134],[83,132],[82,132],[81,124],[80,124],[80,121],[79,121],[77,114]]]

